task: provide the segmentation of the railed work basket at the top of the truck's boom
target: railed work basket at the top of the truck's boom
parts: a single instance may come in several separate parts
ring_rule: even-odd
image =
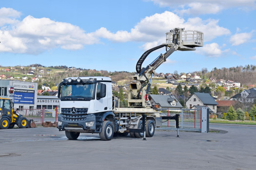
[[[175,28],[166,33],[166,44],[170,47],[177,45],[179,51],[195,51],[195,47],[203,47],[203,33],[195,30],[184,31],[184,28]]]

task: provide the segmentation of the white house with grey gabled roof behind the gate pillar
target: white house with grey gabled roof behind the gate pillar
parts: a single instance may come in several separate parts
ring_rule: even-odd
[[[217,113],[217,102],[209,93],[193,93],[186,101],[186,108],[192,108],[195,105],[208,106],[213,113]]]

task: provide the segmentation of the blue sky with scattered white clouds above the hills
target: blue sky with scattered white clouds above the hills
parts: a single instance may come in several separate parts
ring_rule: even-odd
[[[0,0],[0,66],[133,72],[174,28],[203,32],[204,46],[175,51],[158,73],[256,65],[256,0]]]

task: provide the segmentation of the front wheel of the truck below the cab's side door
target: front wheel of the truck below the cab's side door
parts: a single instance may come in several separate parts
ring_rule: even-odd
[[[102,131],[99,133],[101,140],[111,140],[114,135],[114,126],[111,121],[103,121]]]

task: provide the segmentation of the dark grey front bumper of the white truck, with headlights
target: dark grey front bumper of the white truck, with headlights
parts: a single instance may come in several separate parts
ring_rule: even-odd
[[[85,120],[75,120],[67,118],[62,114],[58,117],[59,131],[72,131],[81,133],[99,133],[99,128],[96,125],[96,117],[94,114],[88,114]]]

